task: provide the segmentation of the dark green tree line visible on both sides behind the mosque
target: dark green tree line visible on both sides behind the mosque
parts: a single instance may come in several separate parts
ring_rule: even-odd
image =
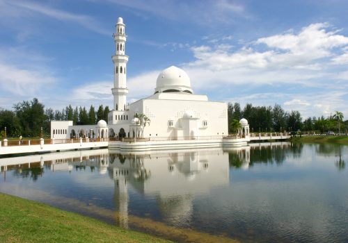
[[[50,122],[73,121],[74,125],[93,125],[100,119],[108,120],[109,106],[75,107],[66,106],[63,110],[53,110],[34,98],[32,101],[22,101],[13,106],[13,110],[0,109],[0,137],[37,137],[41,127],[45,134],[50,133]],[[248,120],[251,133],[259,132],[283,132],[283,131],[312,131],[313,133],[325,133],[335,131],[347,133],[348,120],[342,121],[342,112],[335,112],[329,117],[308,117],[304,119],[297,110],[287,112],[276,104],[271,106],[253,106],[247,103],[242,109],[239,103],[228,103],[228,131],[233,132],[234,121],[245,118]]]

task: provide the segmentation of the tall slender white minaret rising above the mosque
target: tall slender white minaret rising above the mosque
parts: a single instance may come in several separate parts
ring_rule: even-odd
[[[126,97],[128,89],[127,80],[127,62],[128,56],[125,55],[125,43],[127,35],[125,35],[125,24],[123,19],[118,18],[116,23],[116,33],[113,34],[115,41],[116,53],[112,56],[113,61],[113,110],[126,110]]]

